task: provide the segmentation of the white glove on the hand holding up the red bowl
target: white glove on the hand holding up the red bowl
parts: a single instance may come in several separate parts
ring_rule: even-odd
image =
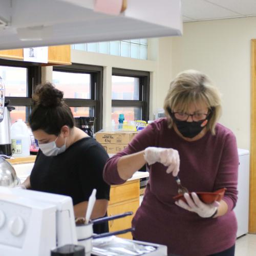
[[[175,204],[185,210],[196,212],[202,218],[212,217],[215,214],[217,207],[220,205],[217,201],[211,204],[203,203],[195,192],[191,193],[193,199],[187,193],[183,196],[187,203],[180,199],[179,201],[176,201]]]

